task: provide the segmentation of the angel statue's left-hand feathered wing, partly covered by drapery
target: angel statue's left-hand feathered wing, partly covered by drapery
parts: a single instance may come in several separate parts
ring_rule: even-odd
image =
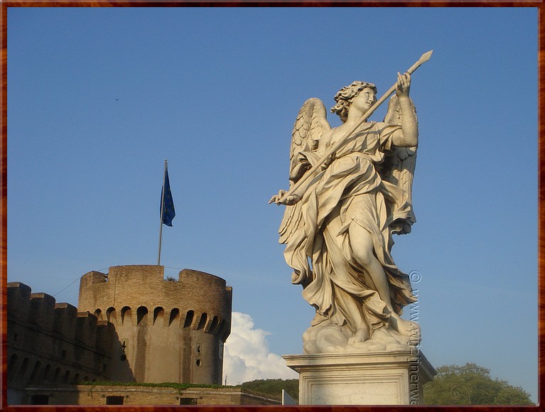
[[[289,180],[290,188],[303,176],[311,165],[308,162],[301,161],[299,154],[303,151],[315,151],[318,147],[318,140],[323,132],[330,130],[331,126],[327,120],[325,106],[320,99],[308,99],[299,110],[299,114],[293,124],[291,132],[290,147],[290,170]],[[286,206],[284,218],[280,224],[279,242],[284,244],[288,242],[293,233],[303,224],[301,219],[301,204]]]

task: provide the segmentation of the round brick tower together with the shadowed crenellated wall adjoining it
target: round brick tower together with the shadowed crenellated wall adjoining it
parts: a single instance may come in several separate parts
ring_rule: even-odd
[[[8,296],[12,393],[31,378],[221,383],[232,309],[222,278],[183,269],[171,281],[163,266],[114,266],[80,278],[78,308],[23,283]]]

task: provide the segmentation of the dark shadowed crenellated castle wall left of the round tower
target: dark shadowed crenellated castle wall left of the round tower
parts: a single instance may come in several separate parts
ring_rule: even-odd
[[[25,403],[28,385],[109,379],[112,325],[23,283],[7,292],[8,403]]]

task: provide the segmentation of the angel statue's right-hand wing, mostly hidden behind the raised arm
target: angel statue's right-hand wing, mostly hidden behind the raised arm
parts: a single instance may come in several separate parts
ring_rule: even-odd
[[[414,116],[416,117],[416,108],[411,100],[411,107]],[[417,120],[418,121],[418,120]],[[388,111],[384,116],[384,123],[401,124],[401,110],[397,102],[397,96],[394,94],[388,102]],[[394,228],[394,233],[406,234],[411,232],[411,226],[416,222],[416,217],[412,210],[412,192],[414,168],[416,166],[416,146],[413,147],[397,147],[385,156],[384,163],[379,170],[383,180],[387,180],[406,193],[406,200],[411,204],[411,212],[408,219],[399,222],[398,227]]]

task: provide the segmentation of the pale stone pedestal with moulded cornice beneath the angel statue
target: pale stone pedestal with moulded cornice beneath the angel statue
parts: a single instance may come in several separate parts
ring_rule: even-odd
[[[300,405],[419,405],[435,369],[416,347],[397,352],[290,354]]]

